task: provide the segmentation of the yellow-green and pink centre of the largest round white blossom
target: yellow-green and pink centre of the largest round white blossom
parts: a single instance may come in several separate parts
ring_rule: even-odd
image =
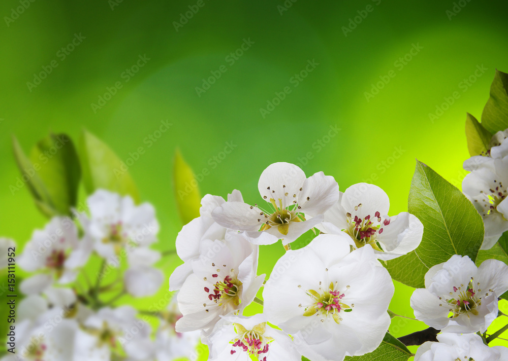
[[[342,318],[339,316],[339,312],[351,312],[352,306],[348,306],[341,302],[344,297],[343,293],[340,293],[339,290],[336,289],[336,284],[330,282],[330,286],[328,290],[319,287],[317,291],[308,290],[307,295],[311,298],[310,306],[305,308],[304,316],[313,316],[316,314],[317,316],[323,316],[321,322],[324,322],[328,316],[332,316],[333,320],[337,323],[340,323]]]

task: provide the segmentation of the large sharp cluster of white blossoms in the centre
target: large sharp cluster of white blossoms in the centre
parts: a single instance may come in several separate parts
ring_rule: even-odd
[[[268,166],[258,189],[265,205],[244,202],[237,190],[227,201],[206,195],[199,218],[178,234],[184,263],[169,280],[183,314],[176,331],[201,331],[210,360],[340,361],[375,350],[394,294],[379,260],[416,249],[422,223],[407,212],[389,216],[379,187],[342,193],[332,176],[306,177],[289,163]],[[320,234],[292,250],[311,229]],[[287,251],[265,282],[259,246],[278,240]],[[256,297],[261,287],[264,302]],[[252,302],[263,313],[244,316]]]

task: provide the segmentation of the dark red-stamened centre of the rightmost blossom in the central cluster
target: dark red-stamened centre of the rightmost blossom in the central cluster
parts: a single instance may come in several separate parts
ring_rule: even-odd
[[[355,206],[355,210],[362,207],[362,204]],[[358,215],[353,215],[350,212],[346,213],[348,228],[344,230],[348,235],[355,241],[356,247],[360,248],[366,244],[370,244],[372,248],[378,251],[383,251],[379,242],[376,238],[379,234],[383,233],[381,228],[381,214],[376,211],[372,217],[370,214],[364,218],[360,218]],[[386,227],[390,224],[390,220],[383,221],[383,225]]]

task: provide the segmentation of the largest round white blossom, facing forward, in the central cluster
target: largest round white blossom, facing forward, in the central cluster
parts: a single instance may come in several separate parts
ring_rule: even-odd
[[[345,233],[287,251],[265,284],[264,313],[313,361],[371,352],[390,324],[394,285],[370,245],[350,252]]]

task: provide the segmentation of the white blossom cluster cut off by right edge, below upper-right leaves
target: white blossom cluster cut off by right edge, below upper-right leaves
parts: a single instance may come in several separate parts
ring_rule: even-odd
[[[492,137],[486,154],[464,162],[470,171],[462,181],[464,195],[482,215],[485,237],[481,249],[490,249],[508,231],[508,129]]]

